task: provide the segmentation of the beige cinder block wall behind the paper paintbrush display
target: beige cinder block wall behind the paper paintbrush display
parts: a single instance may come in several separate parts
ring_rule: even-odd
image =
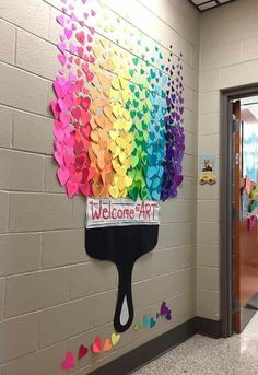
[[[159,246],[133,272],[136,321],[162,301],[172,323],[124,333],[109,354],[89,354],[90,373],[196,315],[199,14],[186,0],[108,1],[150,43],[184,54],[185,181],[162,204]],[[84,250],[85,200],[69,200],[52,161],[51,84],[59,69],[59,0],[0,0],[0,374],[59,375],[67,350],[110,335],[117,272]],[[125,12],[129,11],[129,17]]]

